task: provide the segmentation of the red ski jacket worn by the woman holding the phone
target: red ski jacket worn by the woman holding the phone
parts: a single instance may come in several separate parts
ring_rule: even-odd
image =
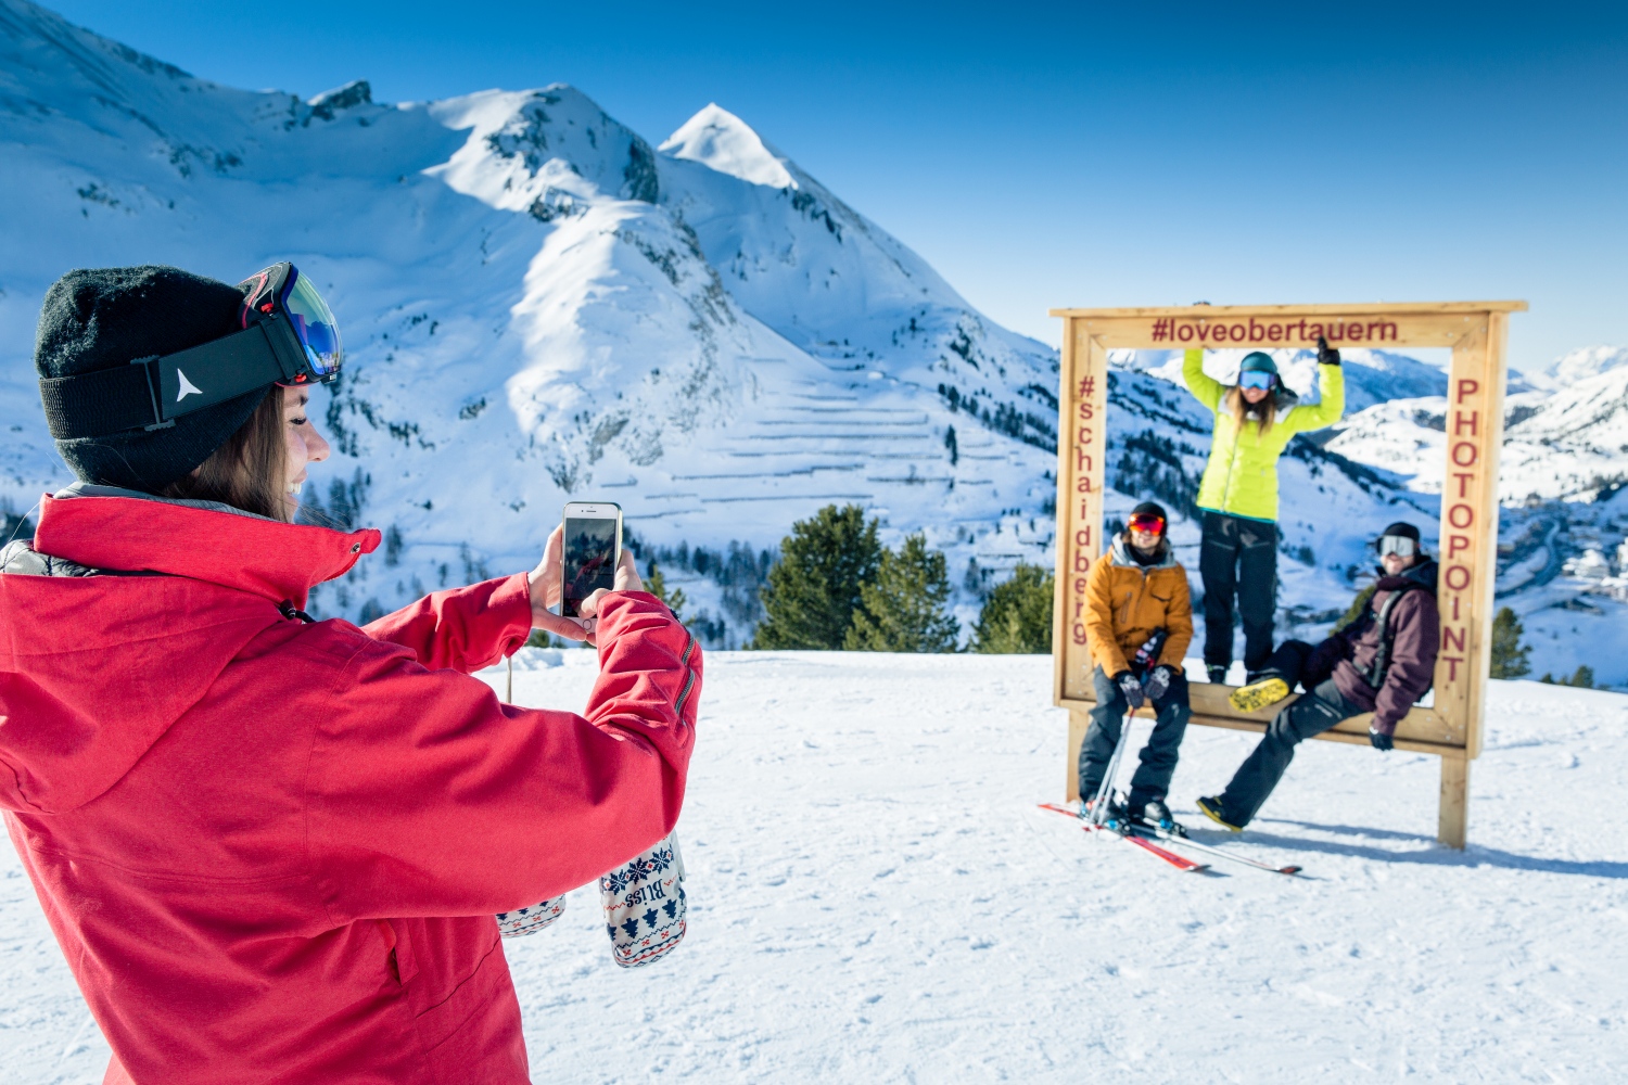
[[[106,1082],[526,1082],[493,913],[677,820],[702,654],[659,600],[606,599],[583,716],[511,708],[467,673],[524,574],[285,617],[378,542],[46,498],[0,573],[0,807]]]

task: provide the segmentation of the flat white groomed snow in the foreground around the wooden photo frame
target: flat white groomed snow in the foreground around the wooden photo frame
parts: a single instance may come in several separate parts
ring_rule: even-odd
[[[526,651],[514,699],[581,708],[593,677]],[[620,970],[584,887],[506,942],[534,1080],[1621,1080],[1628,698],[1493,682],[1464,852],[1434,841],[1436,758],[1330,742],[1223,833],[1193,799],[1255,737],[1188,729],[1177,817],[1306,867],[1280,877],[1182,874],[1037,808],[1063,786],[1050,680],[1034,656],[710,654],[689,935]],[[0,1078],[99,1082],[10,848],[0,872]]]

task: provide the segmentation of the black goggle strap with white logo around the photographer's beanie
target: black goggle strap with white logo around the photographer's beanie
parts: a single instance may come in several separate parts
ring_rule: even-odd
[[[291,361],[287,355],[298,343],[283,343],[285,350],[277,350],[285,337],[295,338],[287,320],[260,320],[163,358],[138,358],[129,366],[72,377],[46,377],[39,382],[39,399],[50,436],[73,441],[137,426],[161,429],[182,415],[291,381],[301,369],[303,356],[287,364]]]

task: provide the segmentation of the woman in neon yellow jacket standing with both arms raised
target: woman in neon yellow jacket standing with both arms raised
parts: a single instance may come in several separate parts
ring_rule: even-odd
[[[1278,586],[1278,457],[1289,438],[1322,429],[1345,413],[1340,351],[1317,338],[1322,402],[1304,405],[1283,387],[1271,355],[1244,356],[1237,384],[1205,373],[1205,351],[1187,351],[1187,390],[1216,415],[1210,464],[1198,486],[1205,514],[1198,574],[1205,582],[1205,670],[1226,682],[1232,665],[1232,597],[1244,621],[1244,669],[1254,673],[1271,656]]]

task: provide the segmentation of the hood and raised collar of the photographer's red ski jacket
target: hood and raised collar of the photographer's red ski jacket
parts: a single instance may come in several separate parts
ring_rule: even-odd
[[[133,491],[44,498],[33,548],[7,555],[49,561],[0,568],[0,807],[62,813],[106,792],[282,600],[304,607],[378,543]]]

